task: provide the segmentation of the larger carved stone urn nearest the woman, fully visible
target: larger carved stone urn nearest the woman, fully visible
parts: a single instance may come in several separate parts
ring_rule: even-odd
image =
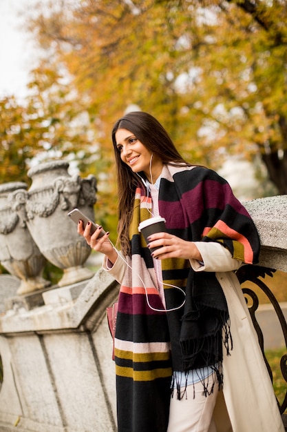
[[[63,269],[59,286],[81,282],[94,275],[83,266],[91,248],[78,235],[76,224],[67,213],[77,207],[94,220],[96,179],[93,175],[85,179],[78,175],[72,177],[68,168],[69,164],[61,160],[30,168],[30,189],[14,193],[15,205],[19,213],[25,213],[25,222],[41,253]]]

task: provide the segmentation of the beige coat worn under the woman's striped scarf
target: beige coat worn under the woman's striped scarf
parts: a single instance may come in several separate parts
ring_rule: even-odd
[[[234,271],[242,263],[217,243],[195,242],[204,265],[191,260],[195,271],[215,271],[220,282],[231,318],[233,351],[224,357],[224,387],[217,397],[215,422],[217,432],[284,432],[257,334]],[[112,268],[103,262],[120,283],[125,272],[125,262],[118,257]]]

